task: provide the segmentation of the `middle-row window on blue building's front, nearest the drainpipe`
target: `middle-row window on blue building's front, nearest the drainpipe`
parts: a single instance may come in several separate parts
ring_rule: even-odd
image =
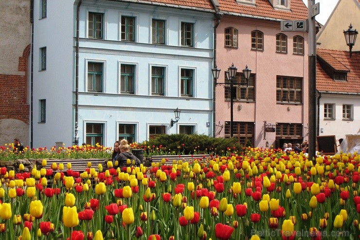
[[[103,63],[88,62],[88,91],[103,91]]]

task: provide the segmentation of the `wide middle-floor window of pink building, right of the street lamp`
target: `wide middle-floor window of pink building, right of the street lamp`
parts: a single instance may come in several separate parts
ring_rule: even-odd
[[[276,101],[282,103],[302,103],[302,78],[277,76]]]

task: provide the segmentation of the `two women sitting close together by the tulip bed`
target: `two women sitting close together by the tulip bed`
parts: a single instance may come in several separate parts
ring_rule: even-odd
[[[114,143],[114,151],[112,152],[111,159],[113,166],[115,166],[115,162],[118,161],[118,167],[120,168],[128,166],[127,159],[134,160],[136,166],[140,166],[141,164],[139,158],[130,151],[130,146],[126,139]]]

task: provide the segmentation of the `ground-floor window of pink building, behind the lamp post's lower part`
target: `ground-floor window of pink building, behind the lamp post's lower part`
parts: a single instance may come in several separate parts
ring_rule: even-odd
[[[230,122],[225,122],[225,137],[230,137]],[[251,145],[254,144],[254,123],[252,122],[233,122],[233,133],[234,138],[237,139],[238,143],[246,146],[247,142],[250,141]]]

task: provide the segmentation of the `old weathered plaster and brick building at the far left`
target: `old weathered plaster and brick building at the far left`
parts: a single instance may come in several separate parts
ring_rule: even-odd
[[[30,1],[1,1],[0,145],[29,142]]]

